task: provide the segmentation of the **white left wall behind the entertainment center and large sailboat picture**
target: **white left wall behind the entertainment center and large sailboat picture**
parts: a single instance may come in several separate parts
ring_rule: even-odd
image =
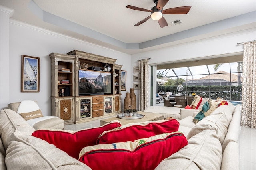
[[[7,71],[6,75],[10,77],[10,79],[6,83],[8,83],[8,86],[10,87],[10,92],[8,93],[8,99],[1,101],[1,107],[2,105],[7,106],[8,103],[30,99],[38,101],[39,107],[44,115],[50,115],[51,63],[48,54],[52,52],[65,54],[77,49],[80,51],[117,59],[116,63],[123,65],[122,70],[127,71],[127,79],[130,79],[131,60],[129,54],[120,53],[112,49],[107,49],[98,45],[63,36],[61,34],[56,34],[54,32],[30,26],[15,20],[10,21],[9,49],[9,57],[6,56],[9,60],[9,73]],[[40,57],[39,93],[20,92],[21,55]],[[130,84],[128,84],[126,88],[130,89]],[[125,91],[121,92],[123,103]]]

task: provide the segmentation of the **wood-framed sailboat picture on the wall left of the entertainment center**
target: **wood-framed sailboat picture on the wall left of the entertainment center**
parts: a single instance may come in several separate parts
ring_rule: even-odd
[[[21,56],[21,92],[39,92],[40,58]]]

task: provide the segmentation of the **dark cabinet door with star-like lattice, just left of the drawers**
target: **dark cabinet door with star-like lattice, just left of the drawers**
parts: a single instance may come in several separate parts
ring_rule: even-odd
[[[92,117],[92,98],[80,99],[80,119]]]

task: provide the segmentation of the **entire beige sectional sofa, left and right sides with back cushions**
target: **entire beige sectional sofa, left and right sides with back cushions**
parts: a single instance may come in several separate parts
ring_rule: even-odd
[[[239,169],[240,105],[220,106],[197,124],[192,119],[187,116],[179,121],[179,131],[188,145],[162,160],[156,169]],[[35,129],[15,111],[3,109],[0,122],[1,170],[90,169],[54,145],[31,136]],[[129,169],[129,163],[124,169]]]

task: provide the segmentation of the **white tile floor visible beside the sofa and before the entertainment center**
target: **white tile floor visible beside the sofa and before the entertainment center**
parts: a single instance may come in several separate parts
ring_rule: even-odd
[[[160,102],[158,105],[162,105]],[[80,130],[100,126],[100,120],[65,125],[65,130]],[[256,128],[240,127],[240,170],[256,170]]]

